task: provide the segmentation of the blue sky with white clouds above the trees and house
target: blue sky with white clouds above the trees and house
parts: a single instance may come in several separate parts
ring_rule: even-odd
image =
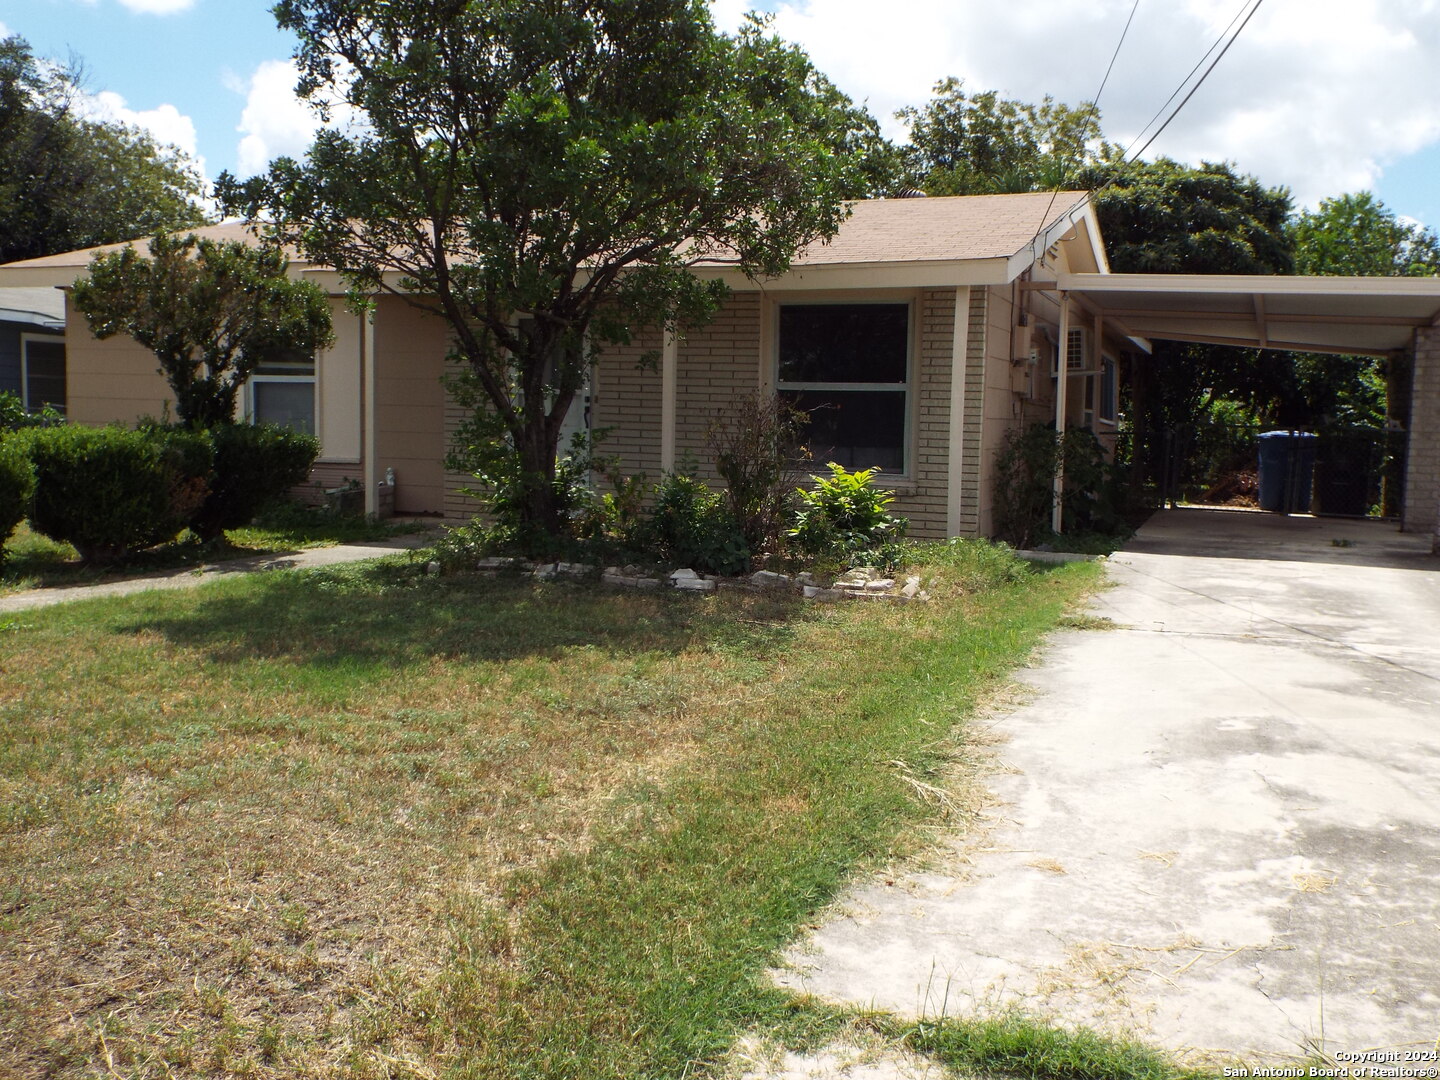
[[[734,29],[750,7],[806,49],[893,138],[894,111],[959,76],[1038,102],[1100,96],[1130,145],[1251,0],[711,0]],[[0,35],[75,59],[88,108],[151,130],[213,179],[304,153],[314,118],[294,94],[294,39],[271,0],[0,0]],[[1264,0],[1146,153],[1231,161],[1296,204],[1372,190],[1440,228],[1440,0]]]

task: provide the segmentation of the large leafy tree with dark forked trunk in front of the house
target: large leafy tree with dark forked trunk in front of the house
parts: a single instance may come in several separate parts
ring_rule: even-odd
[[[874,121],[752,20],[704,0],[281,0],[301,94],[363,118],[304,163],[222,177],[229,207],[357,294],[444,317],[514,456],[521,520],[563,528],[556,442],[585,373],[647,325],[697,325],[720,256],[783,272],[884,168]]]

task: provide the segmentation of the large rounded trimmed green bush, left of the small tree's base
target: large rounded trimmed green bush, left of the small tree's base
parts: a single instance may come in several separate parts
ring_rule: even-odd
[[[203,432],[63,426],[12,438],[35,465],[30,524],[88,563],[174,539],[209,488],[213,452]]]

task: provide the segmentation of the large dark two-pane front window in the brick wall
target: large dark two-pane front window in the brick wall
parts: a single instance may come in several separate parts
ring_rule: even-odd
[[[780,307],[776,390],[809,413],[815,461],[904,474],[909,389],[909,304]]]

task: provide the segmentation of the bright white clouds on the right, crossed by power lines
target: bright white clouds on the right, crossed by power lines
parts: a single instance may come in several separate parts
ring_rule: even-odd
[[[896,137],[893,112],[946,75],[1027,101],[1092,98],[1132,6],[780,0],[775,29]],[[1142,1],[1100,101],[1106,134],[1135,140],[1240,6]],[[737,10],[714,3],[723,29]],[[1440,0],[1269,0],[1148,156],[1234,161],[1313,204],[1440,144],[1437,68]]]

